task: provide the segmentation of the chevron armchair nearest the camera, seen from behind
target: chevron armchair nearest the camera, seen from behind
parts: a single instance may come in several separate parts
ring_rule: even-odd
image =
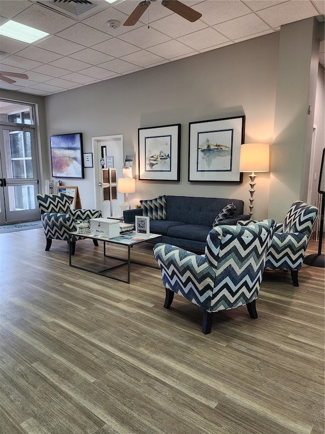
[[[255,300],[262,281],[275,221],[249,226],[216,226],[198,255],[170,244],[153,248],[166,289],[164,307],[177,293],[203,309],[204,334],[211,332],[214,312],[247,306],[257,318]]]

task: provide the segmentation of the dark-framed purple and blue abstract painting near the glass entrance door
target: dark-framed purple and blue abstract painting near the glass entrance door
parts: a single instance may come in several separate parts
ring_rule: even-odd
[[[84,178],[82,133],[50,136],[53,178]]]

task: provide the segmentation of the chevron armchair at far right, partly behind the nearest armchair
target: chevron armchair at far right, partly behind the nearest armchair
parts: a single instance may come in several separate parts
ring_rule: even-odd
[[[294,286],[299,286],[298,272],[303,264],[318,208],[296,200],[288,210],[284,222],[277,223],[266,258],[266,270],[290,270]],[[249,225],[251,221],[239,221]]]

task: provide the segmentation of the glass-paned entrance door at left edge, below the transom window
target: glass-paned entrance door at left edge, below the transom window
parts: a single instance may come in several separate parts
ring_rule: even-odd
[[[40,218],[34,129],[0,126],[0,223]]]

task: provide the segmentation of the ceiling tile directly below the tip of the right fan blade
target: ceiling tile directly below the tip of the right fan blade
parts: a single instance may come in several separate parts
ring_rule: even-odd
[[[153,22],[150,24],[150,27],[155,28],[155,30],[164,33],[171,38],[179,38],[180,36],[201,30],[202,28],[207,27],[207,24],[201,20],[190,22],[177,14],[172,14]]]

